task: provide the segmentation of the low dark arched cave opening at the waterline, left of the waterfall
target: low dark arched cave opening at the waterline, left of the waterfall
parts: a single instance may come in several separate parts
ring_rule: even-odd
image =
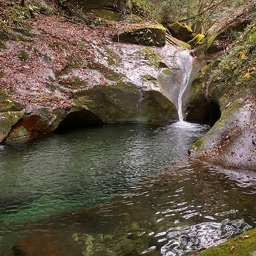
[[[82,109],[80,111],[74,111],[67,114],[59,124],[56,132],[74,130],[84,127],[100,126],[102,124],[102,120],[96,114],[87,109]]]

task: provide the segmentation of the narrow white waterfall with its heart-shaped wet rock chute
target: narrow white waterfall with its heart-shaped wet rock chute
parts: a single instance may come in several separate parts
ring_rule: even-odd
[[[185,119],[184,106],[188,102],[190,86],[199,68],[200,63],[196,62],[190,50],[178,50],[171,66],[164,66],[158,72],[160,91],[176,106],[180,122]]]

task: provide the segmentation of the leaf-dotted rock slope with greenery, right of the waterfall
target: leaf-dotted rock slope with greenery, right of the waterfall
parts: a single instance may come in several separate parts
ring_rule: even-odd
[[[226,54],[215,56],[199,74],[196,94],[202,95],[205,88],[210,117],[213,123],[219,115],[220,119],[190,148],[190,156],[227,168],[256,170],[255,38],[252,23]]]

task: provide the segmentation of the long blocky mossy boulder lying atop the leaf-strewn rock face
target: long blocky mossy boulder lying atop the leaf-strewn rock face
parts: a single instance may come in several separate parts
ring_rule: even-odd
[[[143,26],[118,33],[114,36],[117,42],[142,44],[146,46],[164,46],[166,29],[160,25]]]

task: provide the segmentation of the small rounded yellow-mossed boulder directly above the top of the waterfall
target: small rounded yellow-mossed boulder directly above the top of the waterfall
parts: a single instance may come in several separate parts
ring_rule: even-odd
[[[167,28],[169,32],[172,34],[172,36],[184,42],[188,42],[193,38],[193,31],[190,28],[190,26],[186,24],[182,24],[176,21],[172,24],[168,24]]]

